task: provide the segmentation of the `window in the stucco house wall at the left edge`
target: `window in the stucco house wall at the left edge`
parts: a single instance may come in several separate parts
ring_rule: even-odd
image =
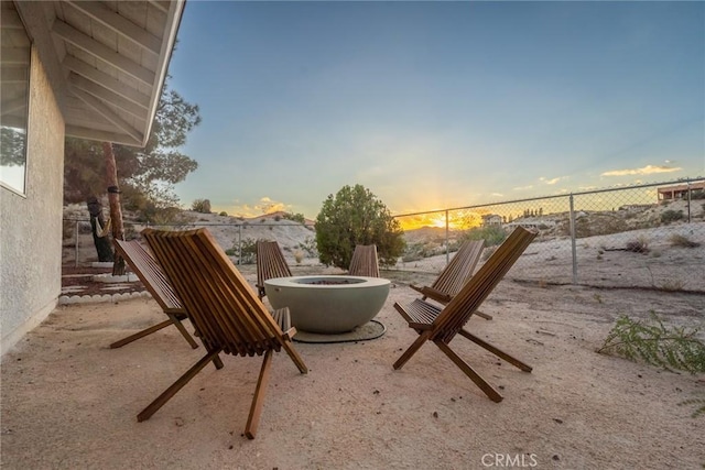
[[[0,185],[24,194],[31,42],[14,2],[0,4]]]

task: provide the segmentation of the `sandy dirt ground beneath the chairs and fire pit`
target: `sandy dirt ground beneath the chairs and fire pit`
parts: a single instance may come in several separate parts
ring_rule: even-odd
[[[252,272],[246,273],[254,282]],[[392,277],[392,274],[388,274]],[[413,278],[412,278],[413,277]],[[392,278],[379,339],[296,343],[310,372],[275,354],[254,440],[242,436],[261,360],[225,357],[144,423],[137,414],[204,353],[173,327],[108,345],[165,317],[152,299],[58,307],[2,358],[7,469],[695,469],[705,417],[684,400],[705,376],[599,354],[621,314],[699,325],[702,294],[502,281],[467,327],[524,360],[522,372],[457,337],[452,348],[505,396],[494,403],[393,308],[415,298]]]

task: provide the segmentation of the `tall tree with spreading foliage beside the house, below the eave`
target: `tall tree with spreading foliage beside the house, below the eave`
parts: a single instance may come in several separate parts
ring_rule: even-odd
[[[126,208],[147,210],[178,203],[173,185],[186,178],[198,163],[181,153],[187,133],[200,123],[197,105],[185,101],[165,84],[152,133],[144,149],[113,145]],[[104,194],[106,166],[100,142],[66,139],[64,201],[78,203]]]

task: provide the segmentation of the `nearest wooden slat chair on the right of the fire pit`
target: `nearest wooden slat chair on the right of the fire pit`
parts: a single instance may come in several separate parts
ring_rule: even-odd
[[[401,369],[426,341],[433,341],[490,400],[501,402],[502,396],[499,392],[460,359],[451,349],[449,342],[459,334],[522,371],[531,372],[532,368],[530,365],[476,337],[464,327],[535,236],[536,233],[522,227],[514,229],[489,260],[463,286],[460,292],[443,308],[420,298],[403,306],[395,303],[394,308],[406,320],[409,326],[416,330],[419,338],[394,362],[394,369]]]

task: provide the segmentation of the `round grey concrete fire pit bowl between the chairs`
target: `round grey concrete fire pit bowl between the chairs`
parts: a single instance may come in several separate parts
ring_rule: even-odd
[[[367,324],[384,305],[389,280],[324,275],[275,277],[264,281],[274,308],[289,307],[296,329],[336,335]]]

